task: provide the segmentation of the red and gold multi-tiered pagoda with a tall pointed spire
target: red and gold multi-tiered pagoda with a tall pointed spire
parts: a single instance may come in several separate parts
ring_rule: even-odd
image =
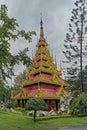
[[[59,109],[61,95],[67,95],[65,87],[69,84],[61,78],[61,70],[48,50],[48,43],[44,38],[43,21],[40,22],[40,38],[37,41],[35,56],[32,65],[26,71],[26,79],[20,83],[20,92],[13,94],[18,107],[25,107],[31,97],[40,97],[48,104],[48,110]]]

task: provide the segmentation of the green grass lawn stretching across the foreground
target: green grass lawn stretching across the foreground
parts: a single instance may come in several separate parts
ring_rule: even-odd
[[[59,126],[86,124],[87,117],[57,118],[34,123],[32,117],[0,111],[0,130],[48,130]]]

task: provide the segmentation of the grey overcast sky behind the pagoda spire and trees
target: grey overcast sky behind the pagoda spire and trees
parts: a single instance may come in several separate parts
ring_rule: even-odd
[[[33,37],[32,43],[20,40],[12,44],[11,51],[17,53],[19,49],[22,50],[28,46],[30,54],[32,53],[39,38],[40,13],[42,13],[45,38],[50,50],[53,49],[59,68],[59,62],[62,60],[64,39],[74,2],[75,0],[0,0],[0,5],[7,5],[9,16],[17,20],[21,29],[36,31],[37,33],[37,36]],[[19,72],[17,67],[16,72]]]

